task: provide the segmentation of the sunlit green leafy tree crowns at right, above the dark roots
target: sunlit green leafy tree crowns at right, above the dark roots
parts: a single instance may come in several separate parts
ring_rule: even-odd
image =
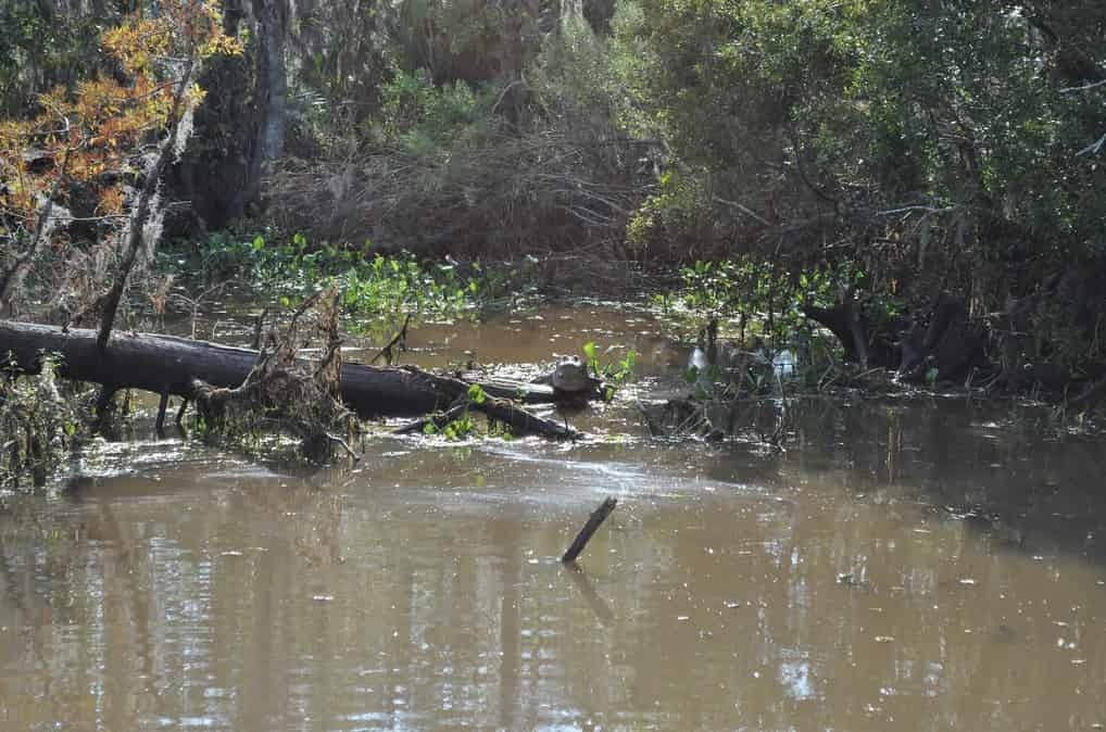
[[[859,250],[932,242],[911,253],[943,257],[966,279],[977,264],[1097,255],[1106,9],[1075,6],[624,4],[628,74],[684,164],[665,222],[687,230],[710,209],[723,239],[774,236],[779,222],[821,237],[818,215],[833,213],[834,233],[851,224],[874,264],[900,252]]]

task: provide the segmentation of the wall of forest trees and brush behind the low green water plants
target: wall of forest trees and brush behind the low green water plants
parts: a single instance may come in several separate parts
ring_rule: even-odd
[[[124,140],[142,150],[187,122],[149,191],[155,238],[164,224],[208,254],[294,236],[362,259],[530,257],[598,292],[682,272],[742,335],[750,314],[814,322],[865,368],[1106,391],[1100,2],[192,4],[219,28],[190,46],[195,65],[163,73],[160,106]],[[146,70],[123,46],[142,35],[105,49],[104,32],[157,14],[0,0],[0,117],[49,117],[94,80],[134,93]],[[153,236],[145,220],[132,245],[116,236],[140,199],[123,190],[133,168],[74,171],[32,144],[41,129],[14,129],[3,272],[95,250],[90,286],[123,290]],[[20,202],[24,174],[49,185]],[[40,251],[45,200],[67,218]],[[28,282],[8,315],[53,281]],[[54,305],[38,316],[88,309]]]

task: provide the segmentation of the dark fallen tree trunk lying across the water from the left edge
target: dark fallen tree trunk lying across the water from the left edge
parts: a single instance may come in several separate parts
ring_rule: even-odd
[[[196,397],[194,380],[238,387],[258,360],[258,352],[249,348],[150,333],[117,332],[107,348],[100,349],[94,331],[0,321],[0,365],[34,374],[42,367],[43,354],[59,359],[58,374],[63,378],[185,399]],[[444,409],[463,397],[470,386],[411,366],[342,365],[342,400],[364,418],[414,417]],[[515,435],[580,437],[575,430],[505,399],[488,398],[472,408],[510,425]]]

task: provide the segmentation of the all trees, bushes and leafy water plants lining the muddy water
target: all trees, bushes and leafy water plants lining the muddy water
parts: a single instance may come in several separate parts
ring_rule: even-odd
[[[643,299],[695,344],[655,435],[841,388],[1031,396],[1087,429],[1106,401],[1102,3],[102,10],[0,0],[0,318],[105,356],[238,283],[261,355],[249,395],[208,395],[241,408],[212,439],[345,445],[343,333],[390,363],[413,320],[551,296]],[[4,362],[0,483],[116,410],[50,363]],[[469,436],[483,396],[427,423]]]

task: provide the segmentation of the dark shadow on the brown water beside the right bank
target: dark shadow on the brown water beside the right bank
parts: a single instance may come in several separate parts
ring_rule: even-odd
[[[1023,412],[962,398],[812,405],[794,450],[808,470],[847,473],[854,495],[927,502],[995,547],[1106,562],[1103,441]]]

